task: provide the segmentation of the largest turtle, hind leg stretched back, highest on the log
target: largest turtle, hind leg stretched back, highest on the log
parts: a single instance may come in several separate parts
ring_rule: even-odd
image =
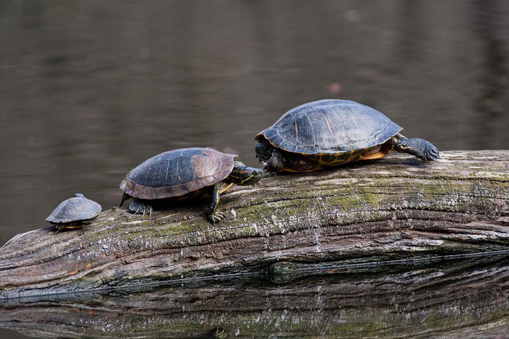
[[[381,112],[353,101],[325,99],[295,107],[257,134],[257,157],[269,172],[310,172],[379,159],[390,150],[422,160],[440,158],[429,141],[408,139]]]

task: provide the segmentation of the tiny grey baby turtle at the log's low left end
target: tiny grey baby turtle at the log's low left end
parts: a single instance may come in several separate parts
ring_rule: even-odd
[[[64,200],[56,206],[46,221],[55,225],[56,232],[63,228],[79,228],[92,223],[101,209],[97,202],[76,193],[73,198]]]

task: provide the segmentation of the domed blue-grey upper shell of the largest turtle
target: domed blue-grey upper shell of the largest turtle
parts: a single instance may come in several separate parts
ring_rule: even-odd
[[[336,154],[380,145],[401,130],[374,108],[325,99],[289,110],[256,139],[295,153]]]

